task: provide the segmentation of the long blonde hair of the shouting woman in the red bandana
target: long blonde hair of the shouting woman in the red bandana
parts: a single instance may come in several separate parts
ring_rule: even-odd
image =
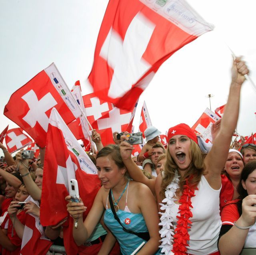
[[[204,171],[204,158],[206,154],[203,154],[199,146],[191,140],[189,153],[191,158],[191,163],[188,166],[188,169],[186,170],[183,177],[180,178],[180,191],[183,191],[183,187],[186,183],[186,179],[192,176],[190,178],[189,183],[191,186],[196,187],[198,183],[200,182],[201,176]],[[166,187],[172,182],[175,172],[178,171],[178,166],[176,165],[175,161],[170,155],[170,151],[167,148],[166,152],[166,163],[163,170],[162,175],[162,183],[161,183],[161,190],[160,190],[160,197],[163,199],[165,196],[165,190]]]

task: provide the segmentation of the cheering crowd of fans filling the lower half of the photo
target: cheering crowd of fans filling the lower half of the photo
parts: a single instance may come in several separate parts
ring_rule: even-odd
[[[147,128],[137,157],[126,134],[118,139],[114,132],[115,144],[104,147],[92,130],[97,154],[90,157],[101,188],[86,217],[81,198],[65,198],[78,254],[256,254],[256,145],[243,144],[242,137],[230,148],[248,73],[244,61],[236,58],[231,73],[225,113],[212,125],[207,152],[184,123],[169,128],[166,148],[160,131]],[[0,148],[0,254],[18,255],[26,215],[40,218],[45,148],[36,161],[21,152],[13,158],[2,143]],[[63,245],[66,221],[44,227],[44,235]]]

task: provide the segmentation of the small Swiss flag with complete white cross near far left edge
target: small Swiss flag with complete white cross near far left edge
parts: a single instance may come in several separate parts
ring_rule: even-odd
[[[22,131],[22,128],[13,128],[7,131],[5,143],[10,153],[16,152],[32,142],[31,138]]]

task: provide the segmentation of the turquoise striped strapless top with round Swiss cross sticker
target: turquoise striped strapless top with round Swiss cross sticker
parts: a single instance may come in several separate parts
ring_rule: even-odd
[[[142,213],[131,213],[118,210],[116,215],[119,217],[120,222],[126,229],[132,230],[136,233],[148,232]],[[110,208],[106,209],[104,223],[117,238],[122,255],[130,255],[144,241],[137,235],[126,233],[118,221],[114,218]],[[154,254],[157,255],[161,253],[158,251]]]

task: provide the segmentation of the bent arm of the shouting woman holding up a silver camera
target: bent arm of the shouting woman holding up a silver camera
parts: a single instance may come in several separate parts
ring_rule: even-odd
[[[122,140],[127,140],[128,137],[121,136]],[[153,194],[155,194],[155,179],[148,179],[144,174],[142,173],[142,170],[135,164],[135,162],[132,160],[132,150],[133,147],[128,142],[121,142],[120,143],[120,153],[122,160],[124,162],[124,165],[126,166],[130,177],[132,180],[136,182],[141,182],[148,186]]]

